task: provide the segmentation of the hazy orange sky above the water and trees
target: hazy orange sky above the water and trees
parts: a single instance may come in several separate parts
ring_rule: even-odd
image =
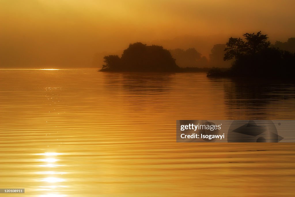
[[[94,53],[132,42],[213,44],[259,30],[295,37],[294,0],[0,0],[1,67],[89,67]],[[177,37],[177,38],[176,38]]]

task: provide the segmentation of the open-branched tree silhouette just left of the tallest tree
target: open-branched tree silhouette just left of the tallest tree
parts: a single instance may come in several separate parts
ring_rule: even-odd
[[[242,38],[230,37],[226,43],[226,46],[227,47],[224,49],[226,52],[224,54],[223,60],[226,61],[235,58],[235,61],[238,62],[242,53],[245,52],[245,42],[242,40]]]

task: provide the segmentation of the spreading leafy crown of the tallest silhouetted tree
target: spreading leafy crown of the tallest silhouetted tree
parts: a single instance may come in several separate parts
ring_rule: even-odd
[[[267,41],[267,35],[261,34],[261,31],[255,33],[245,33],[243,34],[246,41],[246,51],[251,54],[255,54],[263,49],[266,49],[271,44]]]

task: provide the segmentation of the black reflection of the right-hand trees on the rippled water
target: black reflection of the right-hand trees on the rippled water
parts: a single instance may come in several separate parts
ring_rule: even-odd
[[[224,94],[231,119],[274,117],[278,111],[294,110],[294,83],[232,79],[224,83]]]

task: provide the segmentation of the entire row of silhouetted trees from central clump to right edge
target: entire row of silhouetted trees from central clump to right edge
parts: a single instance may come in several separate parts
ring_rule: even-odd
[[[261,32],[243,36],[245,40],[231,37],[226,44],[214,45],[209,60],[195,48],[167,50],[158,45],[132,43],[121,57],[104,56],[105,64],[100,71],[208,71],[208,76],[293,76],[295,38],[271,45],[267,35]]]

